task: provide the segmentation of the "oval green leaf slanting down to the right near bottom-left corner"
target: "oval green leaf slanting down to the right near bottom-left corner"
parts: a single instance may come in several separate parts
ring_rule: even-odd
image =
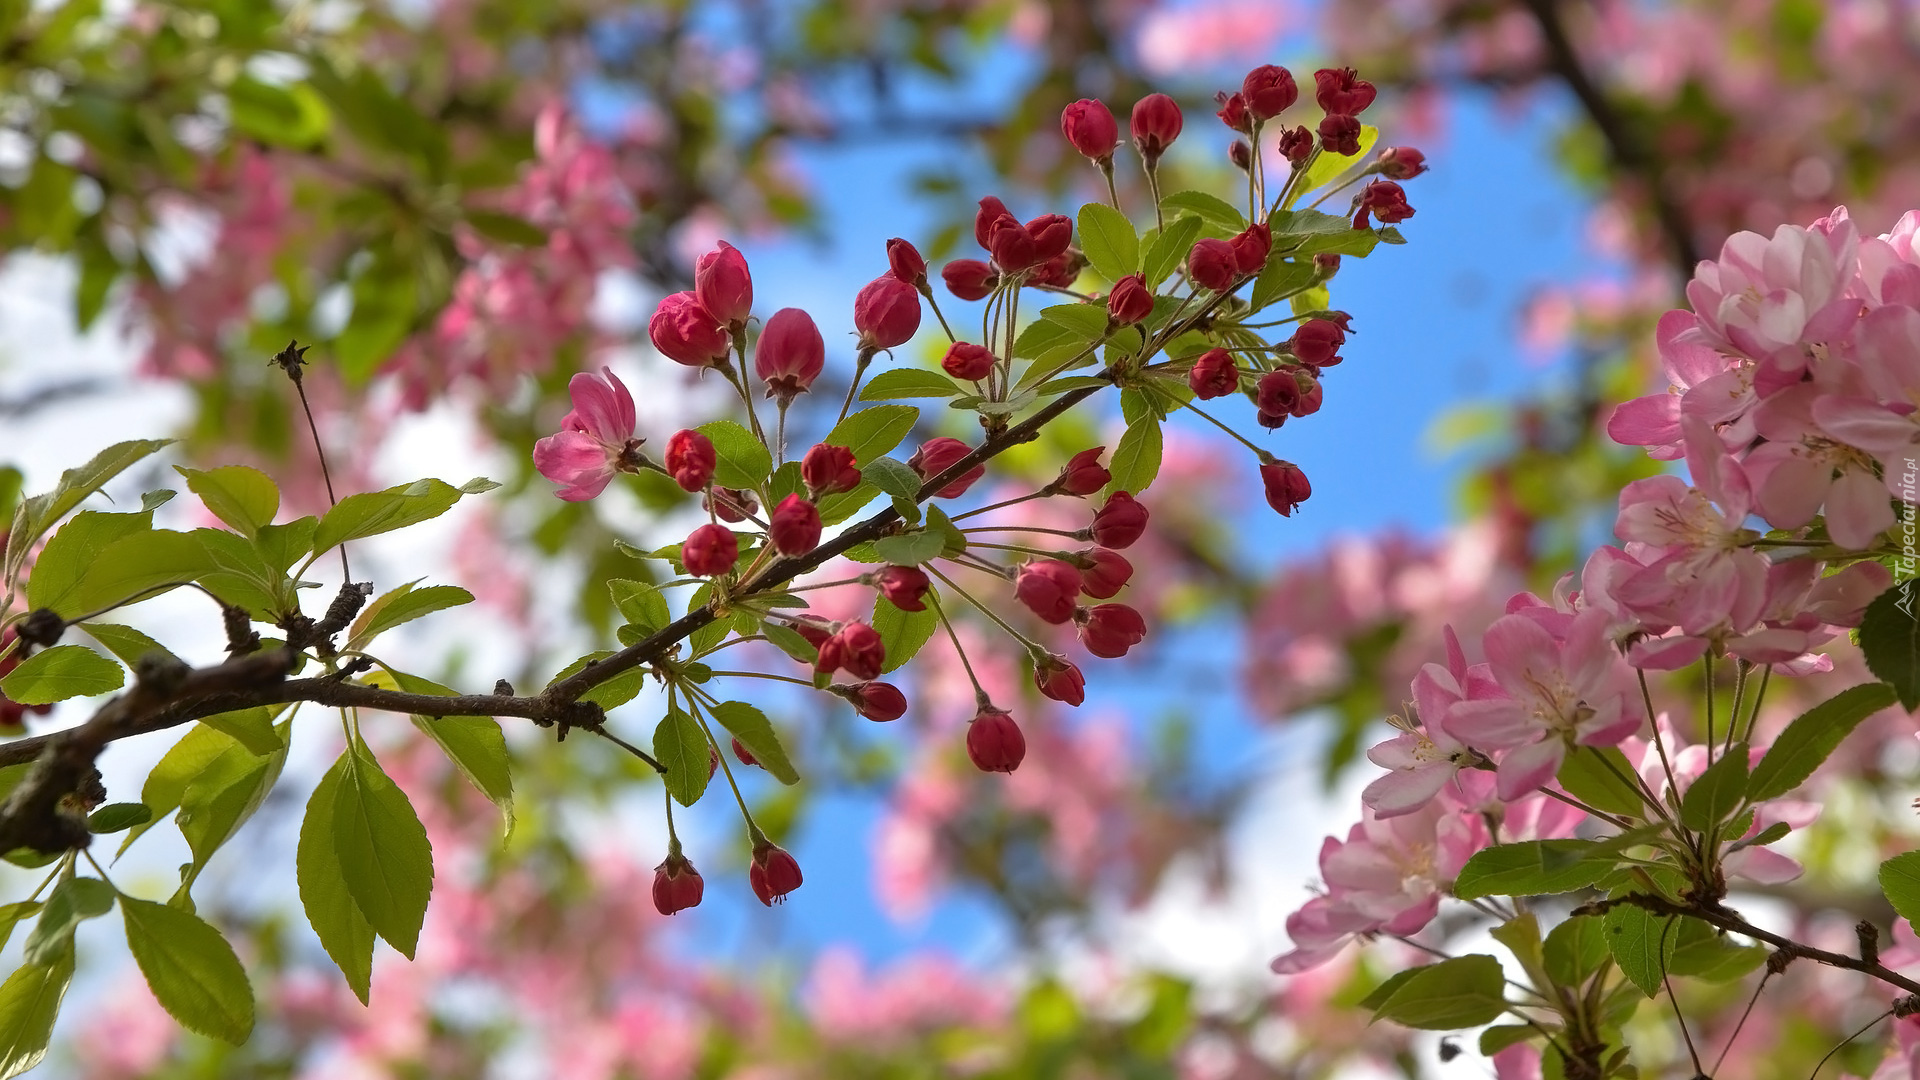
[[[148,990],[190,1032],[240,1045],[253,1034],[253,988],[219,930],[196,915],[121,897],[127,947]]]

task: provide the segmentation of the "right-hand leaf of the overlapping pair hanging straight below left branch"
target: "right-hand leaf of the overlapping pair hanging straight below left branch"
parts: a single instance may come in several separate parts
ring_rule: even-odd
[[[386,944],[413,959],[434,892],[434,847],[407,792],[388,778],[365,742],[348,748],[334,798],[334,851],[361,915]]]

